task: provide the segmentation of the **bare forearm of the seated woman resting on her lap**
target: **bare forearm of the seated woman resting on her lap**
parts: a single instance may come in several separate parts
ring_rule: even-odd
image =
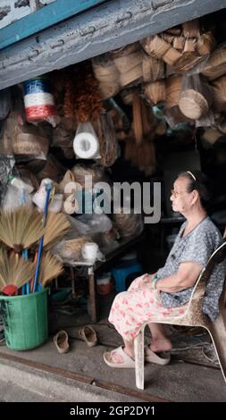
[[[195,284],[202,270],[203,265],[198,263],[181,263],[177,273],[156,282],[156,289],[167,293],[188,289]]]

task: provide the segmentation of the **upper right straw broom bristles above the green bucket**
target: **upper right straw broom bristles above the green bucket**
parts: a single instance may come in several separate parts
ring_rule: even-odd
[[[53,248],[69,230],[71,223],[67,220],[65,214],[49,213],[46,220],[43,246],[45,249]]]

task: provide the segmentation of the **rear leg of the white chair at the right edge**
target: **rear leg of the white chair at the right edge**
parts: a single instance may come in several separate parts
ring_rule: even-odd
[[[226,329],[221,313],[207,329],[213,340],[213,346],[222,369],[223,379],[226,382]]]

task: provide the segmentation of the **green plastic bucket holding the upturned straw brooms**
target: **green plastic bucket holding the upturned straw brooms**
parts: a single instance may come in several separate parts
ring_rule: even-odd
[[[48,338],[48,289],[22,296],[0,296],[6,346],[35,349]]]

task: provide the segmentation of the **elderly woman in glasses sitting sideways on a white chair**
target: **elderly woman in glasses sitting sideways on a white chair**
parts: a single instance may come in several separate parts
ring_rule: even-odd
[[[171,350],[172,342],[161,323],[152,323],[152,317],[156,320],[159,315],[161,321],[164,316],[184,314],[199,274],[222,239],[205,212],[209,199],[206,184],[205,175],[199,171],[182,172],[174,182],[172,210],[183,214],[186,222],[180,227],[163,268],[138,277],[129,290],[115,297],[109,321],[121,334],[124,347],[105,352],[107,365],[134,367],[133,340],[143,323],[148,323],[151,331],[146,361],[169,363],[170,357],[159,357],[157,353]]]

